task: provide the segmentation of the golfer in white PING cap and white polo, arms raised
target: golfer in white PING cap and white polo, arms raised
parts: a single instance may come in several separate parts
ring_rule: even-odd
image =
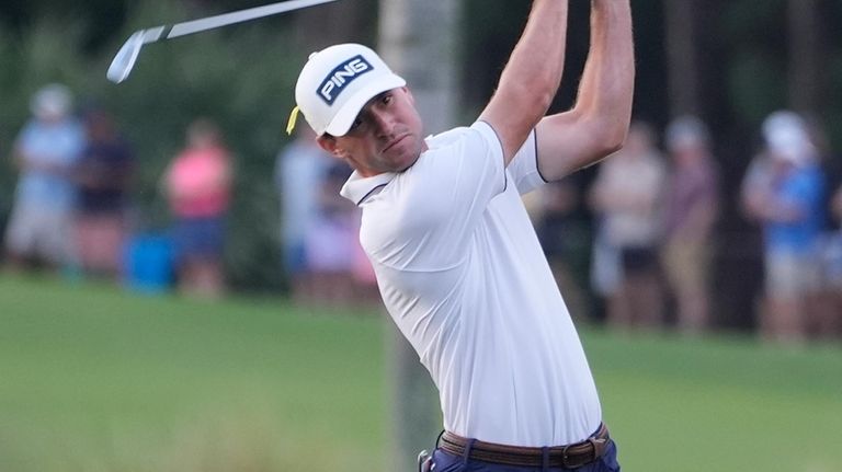
[[[619,470],[520,197],[600,161],[626,136],[629,1],[591,8],[578,100],[556,115],[545,116],[564,68],[566,0],[533,2],[469,127],[424,138],[405,80],[361,45],[312,54],[298,78],[296,102],[318,143],[354,169],[341,193],[363,210],[360,240],[386,308],[439,388],[436,471]]]

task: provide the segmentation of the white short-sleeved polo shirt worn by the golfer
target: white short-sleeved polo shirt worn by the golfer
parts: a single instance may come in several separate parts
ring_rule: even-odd
[[[534,133],[508,169],[482,122],[426,143],[405,172],[354,173],[342,195],[363,208],[360,240],[445,429],[514,446],[587,438],[596,388],[520,198],[544,182]]]

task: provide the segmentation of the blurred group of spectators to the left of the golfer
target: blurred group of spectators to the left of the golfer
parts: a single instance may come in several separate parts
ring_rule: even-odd
[[[7,269],[147,292],[225,295],[234,168],[216,123],[197,117],[186,126],[183,148],[158,176],[169,225],[149,230],[134,211],[134,150],[109,112],[75,106],[61,84],[37,91],[31,112],[12,149],[18,185],[2,234]],[[307,133],[277,156],[278,264],[297,301],[375,301],[374,274],[356,238],[360,214],[339,195],[350,170]]]

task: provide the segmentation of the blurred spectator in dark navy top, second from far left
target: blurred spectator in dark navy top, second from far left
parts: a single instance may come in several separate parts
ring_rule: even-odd
[[[134,156],[105,111],[89,111],[84,124],[88,145],[73,168],[79,262],[88,274],[115,277],[126,239]]]

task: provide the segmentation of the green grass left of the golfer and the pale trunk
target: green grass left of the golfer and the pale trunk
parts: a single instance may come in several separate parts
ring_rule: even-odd
[[[376,316],[2,278],[0,326],[0,471],[364,471],[384,439]]]

